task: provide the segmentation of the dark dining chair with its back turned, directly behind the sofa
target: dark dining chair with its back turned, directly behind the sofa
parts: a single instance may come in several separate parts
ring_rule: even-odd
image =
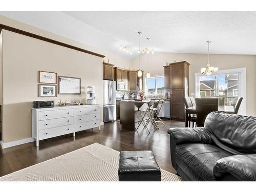
[[[204,126],[204,121],[210,112],[218,111],[218,98],[196,98],[197,126]]]

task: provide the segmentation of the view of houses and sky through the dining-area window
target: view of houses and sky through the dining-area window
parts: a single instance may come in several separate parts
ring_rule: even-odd
[[[200,96],[223,96],[225,105],[230,105],[239,96],[238,77],[238,73],[200,76]]]

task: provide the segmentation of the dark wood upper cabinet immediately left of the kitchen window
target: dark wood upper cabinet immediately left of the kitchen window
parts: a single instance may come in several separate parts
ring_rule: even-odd
[[[143,90],[143,71],[142,71],[141,77],[138,77],[138,71],[129,71],[129,90],[130,91]]]

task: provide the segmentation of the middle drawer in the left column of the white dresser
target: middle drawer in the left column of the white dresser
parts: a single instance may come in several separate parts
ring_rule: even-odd
[[[56,126],[65,126],[69,124],[74,124],[74,117],[58,118],[58,119],[49,119],[44,121],[38,121],[39,130],[49,129]]]

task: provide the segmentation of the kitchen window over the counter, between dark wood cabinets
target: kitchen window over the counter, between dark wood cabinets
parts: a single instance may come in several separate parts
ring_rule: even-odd
[[[164,96],[164,76],[145,78],[145,93],[148,96]]]

